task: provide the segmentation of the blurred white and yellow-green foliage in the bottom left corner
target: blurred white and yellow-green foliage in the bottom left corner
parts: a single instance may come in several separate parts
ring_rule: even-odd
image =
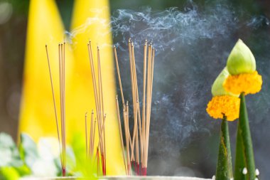
[[[83,138],[75,136],[72,147],[67,148],[68,176],[95,179],[94,171],[92,171],[95,166],[91,166],[86,160],[85,147],[78,139]],[[21,142],[17,148],[9,134],[0,133],[0,179],[16,180],[21,176],[44,176],[45,174],[61,176],[60,157],[48,153],[44,157],[41,151],[47,151],[48,147],[39,146],[27,134],[21,134]],[[50,155],[52,157],[48,157]],[[53,161],[48,161],[48,159],[53,159]],[[52,174],[54,169],[56,171]]]

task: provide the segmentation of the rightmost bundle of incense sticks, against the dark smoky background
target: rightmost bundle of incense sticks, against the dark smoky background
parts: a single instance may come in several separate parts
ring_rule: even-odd
[[[149,129],[151,120],[151,101],[152,101],[152,89],[153,89],[153,65],[155,50],[152,44],[147,46],[147,41],[144,44],[144,78],[143,78],[143,100],[142,100],[142,114],[139,104],[139,89],[138,80],[136,75],[136,60],[134,54],[134,45],[129,39],[129,66],[131,73],[131,90],[132,90],[132,102],[134,112],[134,129],[131,137],[129,131],[129,105],[124,101],[123,88],[121,86],[121,75],[119,71],[119,64],[117,58],[117,50],[114,46],[114,57],[117,66],[117,76],[119,80],[121,100],[123,104],[123,119],[124,119],[124,131],[126,137],[126,157],[124,155],[124,143],[121,133],[121,122],[119,112],[119,102],[117,101],[119,130],[121,137],[121,147],[124,159],[124,165],[126,166],[126,174],[131,174],[131,165],[134,166],[134,170],[137,175],[146,176],[147,174],[147,159],[148,159],[148,142],[149,142]],[[142,121],[141,121],[142,120]],[[139,126],[139,127],[138,127]],[[135,147],[135,152],[134,152]],[[139,154],[141,156],[139,156]],[[140,163],[141,158],[141,163]],[[141,166],[140,166],[141,164]]]

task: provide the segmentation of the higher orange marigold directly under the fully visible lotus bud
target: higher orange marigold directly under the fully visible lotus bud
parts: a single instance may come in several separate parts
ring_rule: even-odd
[[[239,75],[229,75],[225,80],[224,88],[228,92],[239,94],[255,94],[261,90],[262,79],[257,71],[254,73],[242,73]]]

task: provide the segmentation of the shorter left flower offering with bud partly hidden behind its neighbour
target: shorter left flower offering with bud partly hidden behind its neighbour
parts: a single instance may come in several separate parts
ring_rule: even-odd
[[[227,121],[239,117],[240,100],[237,95],[225,91],[223,83],[229,76],[224,68],[212,85],[212,100],[207,105],[207,113],[215,118],[222,119],[220,127],[220,149],[217,160],[216,179],[232,179],[232,157],[229,144],[229,127]]]

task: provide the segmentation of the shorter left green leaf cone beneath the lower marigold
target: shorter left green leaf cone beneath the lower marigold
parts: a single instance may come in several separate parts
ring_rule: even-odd
[[[223,117],[220,128],[220,149],[217,158],[217,180],[232,179],[232,157],[229,145],[229,127],[227,117]]]

